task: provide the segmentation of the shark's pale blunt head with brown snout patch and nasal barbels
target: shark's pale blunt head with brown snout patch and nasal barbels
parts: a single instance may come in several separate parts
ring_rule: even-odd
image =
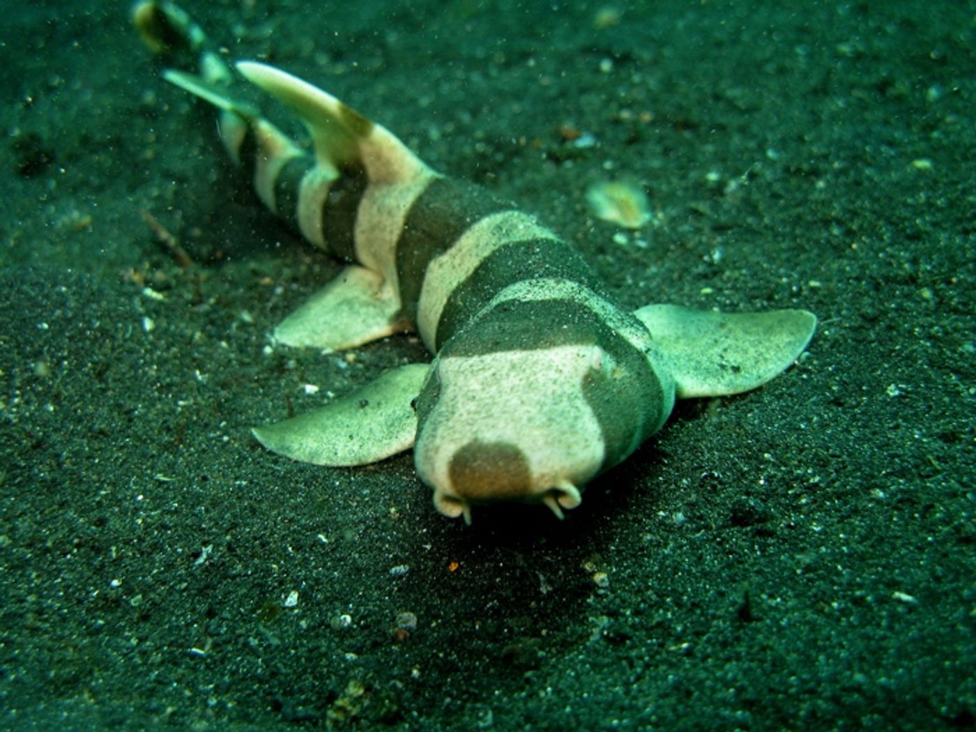
[[[646,420],[629,420],[621,434],[612,417],[642,401],[628,399],[627,376],[590,344],[443,353],[417,400],[414,448],[434,506],[468,522],[478,504],[543,503],[560,518],[579,506],[584,484],[644,436]]]

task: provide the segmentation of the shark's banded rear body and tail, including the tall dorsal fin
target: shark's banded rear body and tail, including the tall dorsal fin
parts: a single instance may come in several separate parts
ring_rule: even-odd
[[[133,21],[145,44],[179,67],[165,71],[164,78],[218,108],[226,151],[253,170],[255,190],[271,212],[313,245],[395,279],[395,237],[387,241],[389,236],[371,234],[364,237],[371,243],[363,243],[356,226],[374,233],[398,231],[399,219],[436,173],[386,128],[327,92],[264,63],[226,61],[225,52],[174,3],[143,0]],[[298,114],[312,149],[293,142],[257,106],[242,101],[251,86]],[[332,200],[336,210],[326,217]],[[361,201],[375,209],[374,215],[358,209]],[[389,212],[399,219],[390,221]],[[329,241],[326,227],[332,229]]]

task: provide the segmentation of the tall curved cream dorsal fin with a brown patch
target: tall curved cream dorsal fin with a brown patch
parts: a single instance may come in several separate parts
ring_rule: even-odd
[[[430,169],[403,142],[328,92],[257,61],[239,61],[245,79],[282,102],[305,122],[320,164],[362,165],[371,183],[408,183]]]

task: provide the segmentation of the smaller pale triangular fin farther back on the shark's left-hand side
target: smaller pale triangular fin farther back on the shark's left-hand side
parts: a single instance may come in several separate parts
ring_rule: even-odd
[[[341,350],[409,330],[400,300],[382,275],[347,266],[274,329],[285,346]]]

